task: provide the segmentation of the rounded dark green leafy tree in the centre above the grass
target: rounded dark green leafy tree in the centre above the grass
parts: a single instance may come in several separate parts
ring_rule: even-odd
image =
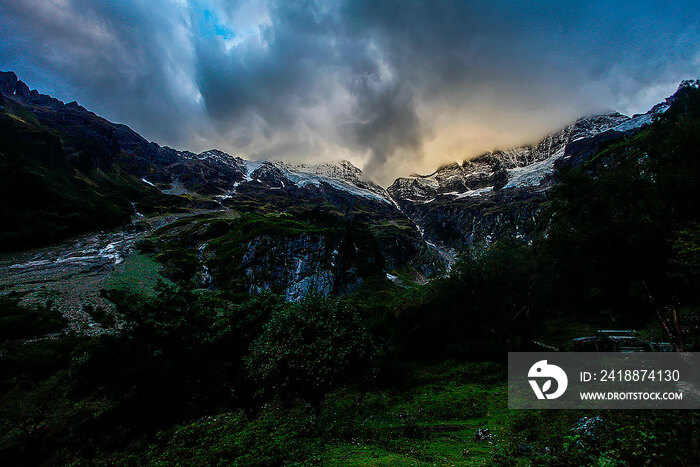
[[[302,399],[318,409],[334,385],[366,373],[376,346],[342,300],[310,296],[278,306],[246,357],[263,396]]]

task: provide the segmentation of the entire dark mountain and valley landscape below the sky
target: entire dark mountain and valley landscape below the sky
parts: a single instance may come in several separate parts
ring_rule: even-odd
[[[697,411],[508,410],[506,386],[507,352],[599,329],[697,351],[698,82],[387,190],[3,82],[0,463],[700,458]]]

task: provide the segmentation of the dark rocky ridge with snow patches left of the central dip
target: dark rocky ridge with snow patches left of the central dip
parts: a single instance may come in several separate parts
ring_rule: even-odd
[[[382,203],[391,203],[386,190],[364,177],[348,161],[317,165],[281,161],[247,161],[212,149],[200,154],[178,151],[148,142],[129,127],[113,124],[73,102],[63,104],[40,94],[12,72],[0,74],[0,93],[9,105],[8,114],[29,111],[38,123],[59,136],[69,163],[85,170],[106,171],[118,164],[144,183],[166,195],[197,194],[226,197],[240,184],[279,189],[305,186],[341,190]],[[12,108],[20,106],[18,112]],[[31,124],[32,122],[27,122]],[[91,140],[90,153],[76,148],[76,141]]]

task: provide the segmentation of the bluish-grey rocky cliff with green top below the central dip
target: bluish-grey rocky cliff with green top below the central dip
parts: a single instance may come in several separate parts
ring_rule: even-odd
[[[173,280],[289,300],[351,293],[368,278],[425,280],[444,271],[405,217],[356,221],[318,209],[210,212],[159,229],[142,248]]]

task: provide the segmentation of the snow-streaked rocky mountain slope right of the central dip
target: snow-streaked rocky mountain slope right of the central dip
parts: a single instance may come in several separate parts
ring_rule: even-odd
[[[488,152],[430,175],[399,178],[388,192],[436,248],[527,239],[560,167],[580,167],[606,145],[641,131],[673,99],[633,117],[615,112],[580,118],[533,146]]]

